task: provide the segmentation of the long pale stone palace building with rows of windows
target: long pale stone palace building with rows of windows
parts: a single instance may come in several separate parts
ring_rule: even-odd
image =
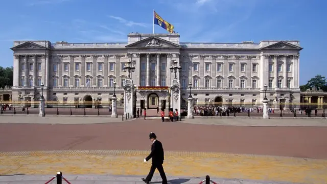
[[[14,41],[12,101],[108,102],[113,83],[123,101],[124,66],[131,61],[137,108],[168,108],[170,66],[181,66],[181,99],[193,103],[300,102],[299,41],[180,42],[180,35],[130,33],[124,43]],[[181,105],[183,106],[183,100]]]

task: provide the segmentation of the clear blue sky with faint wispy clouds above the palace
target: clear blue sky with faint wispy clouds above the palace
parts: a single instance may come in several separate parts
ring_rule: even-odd
[[[323,0],[12,0],[2,7],[2,66],[13,63],[14,40],[126,42],[130,32],[152,33],[154,9],[182,42],[300,40],[300,84],[327,74]]]

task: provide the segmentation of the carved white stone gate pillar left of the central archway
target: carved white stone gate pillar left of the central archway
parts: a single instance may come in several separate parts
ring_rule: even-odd
[[[132,79],[125,80],[124,86],[124,116],[128,114],[128,118],[133,118],[134,107],[134,84]]]

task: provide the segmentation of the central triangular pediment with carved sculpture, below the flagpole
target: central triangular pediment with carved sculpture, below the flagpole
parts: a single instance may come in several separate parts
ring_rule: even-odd
[[[126,45],[126,48],[181,48],[180,45],[162,38],[151,36],[149,38]]]

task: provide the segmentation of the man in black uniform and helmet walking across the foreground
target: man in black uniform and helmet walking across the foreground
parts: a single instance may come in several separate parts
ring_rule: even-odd
[[[148,176],[146,178],[142,178],[142,180],[145,183],[149,183],[153,177],[155,169],[158,169],[162,179],[162,183],[167,184],[167,177],[164,171],[164,167],[162,167],[162,164],[164,164],[164,148],[162,148],[161,142],[158,141],[156,138],[157,136],[155,135],[155,133],[151,132],[149,135],[149,139],[152,142],[151,153],[149,154],[149,156],[144,158],[144,162],[146,163],[149,161],[150,158],[152,158],[152,165]]]

